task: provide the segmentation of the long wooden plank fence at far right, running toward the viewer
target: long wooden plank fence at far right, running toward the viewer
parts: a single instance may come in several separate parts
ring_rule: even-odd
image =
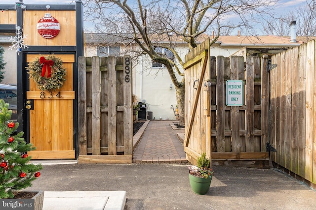
[[[272,56],[271,159],[316,184],[315,40]]]

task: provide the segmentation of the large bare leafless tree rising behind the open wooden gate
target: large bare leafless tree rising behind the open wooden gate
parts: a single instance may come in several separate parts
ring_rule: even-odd
[[[192,50],[209,29],[215,30],[216,34],[211,44],[218,39],[221,31],[227,34],[229,29],[238,27],[252,33],[258,19],[270,12],[275,1],[86,0],[85,17],[86,20],[98,21],[96,28],[100,32],[133,34],[132,38],[129,37],[130,42],[139,45],[139,55],[147,54],[153,62],[166,67],[176,89],[179,124],[183,125],[184,60],[175,50],[175,42],[181,39]],[[229,19],[233,19],[233,22],[229,22]],[[155,50],[157,47],[170,50],[176,60],[158,53]],[[182,79],[178,80],[176,74],[181,75]]]

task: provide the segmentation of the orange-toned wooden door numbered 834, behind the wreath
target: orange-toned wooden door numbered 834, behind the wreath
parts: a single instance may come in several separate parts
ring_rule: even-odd
[[[27,62],[45,55],[27,55]],[[30,143],[37,149],[28,152],[32,159],[72,159],[74,150],[73,67],[75,55],[55,55],[63,60],[66,81],[59,90],[42,91],[29,80],[27,100],[34,100],[29,111]]]

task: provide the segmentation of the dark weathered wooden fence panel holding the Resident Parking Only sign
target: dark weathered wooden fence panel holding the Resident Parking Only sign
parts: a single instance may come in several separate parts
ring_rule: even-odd
[[[269,74],[267,59],[211,58],[212,161],[217,165],[269,167]],[[216,76],[215,76],[216,75]],[[242,80],[242,106],[226,105],[226,81]]]

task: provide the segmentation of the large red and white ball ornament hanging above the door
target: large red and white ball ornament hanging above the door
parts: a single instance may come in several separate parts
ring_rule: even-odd
[[[58,35],[60,24],[50,13],[45,13],[45,16],[42,17],[37,24],[37,30],[45,39],[51,39]]]

